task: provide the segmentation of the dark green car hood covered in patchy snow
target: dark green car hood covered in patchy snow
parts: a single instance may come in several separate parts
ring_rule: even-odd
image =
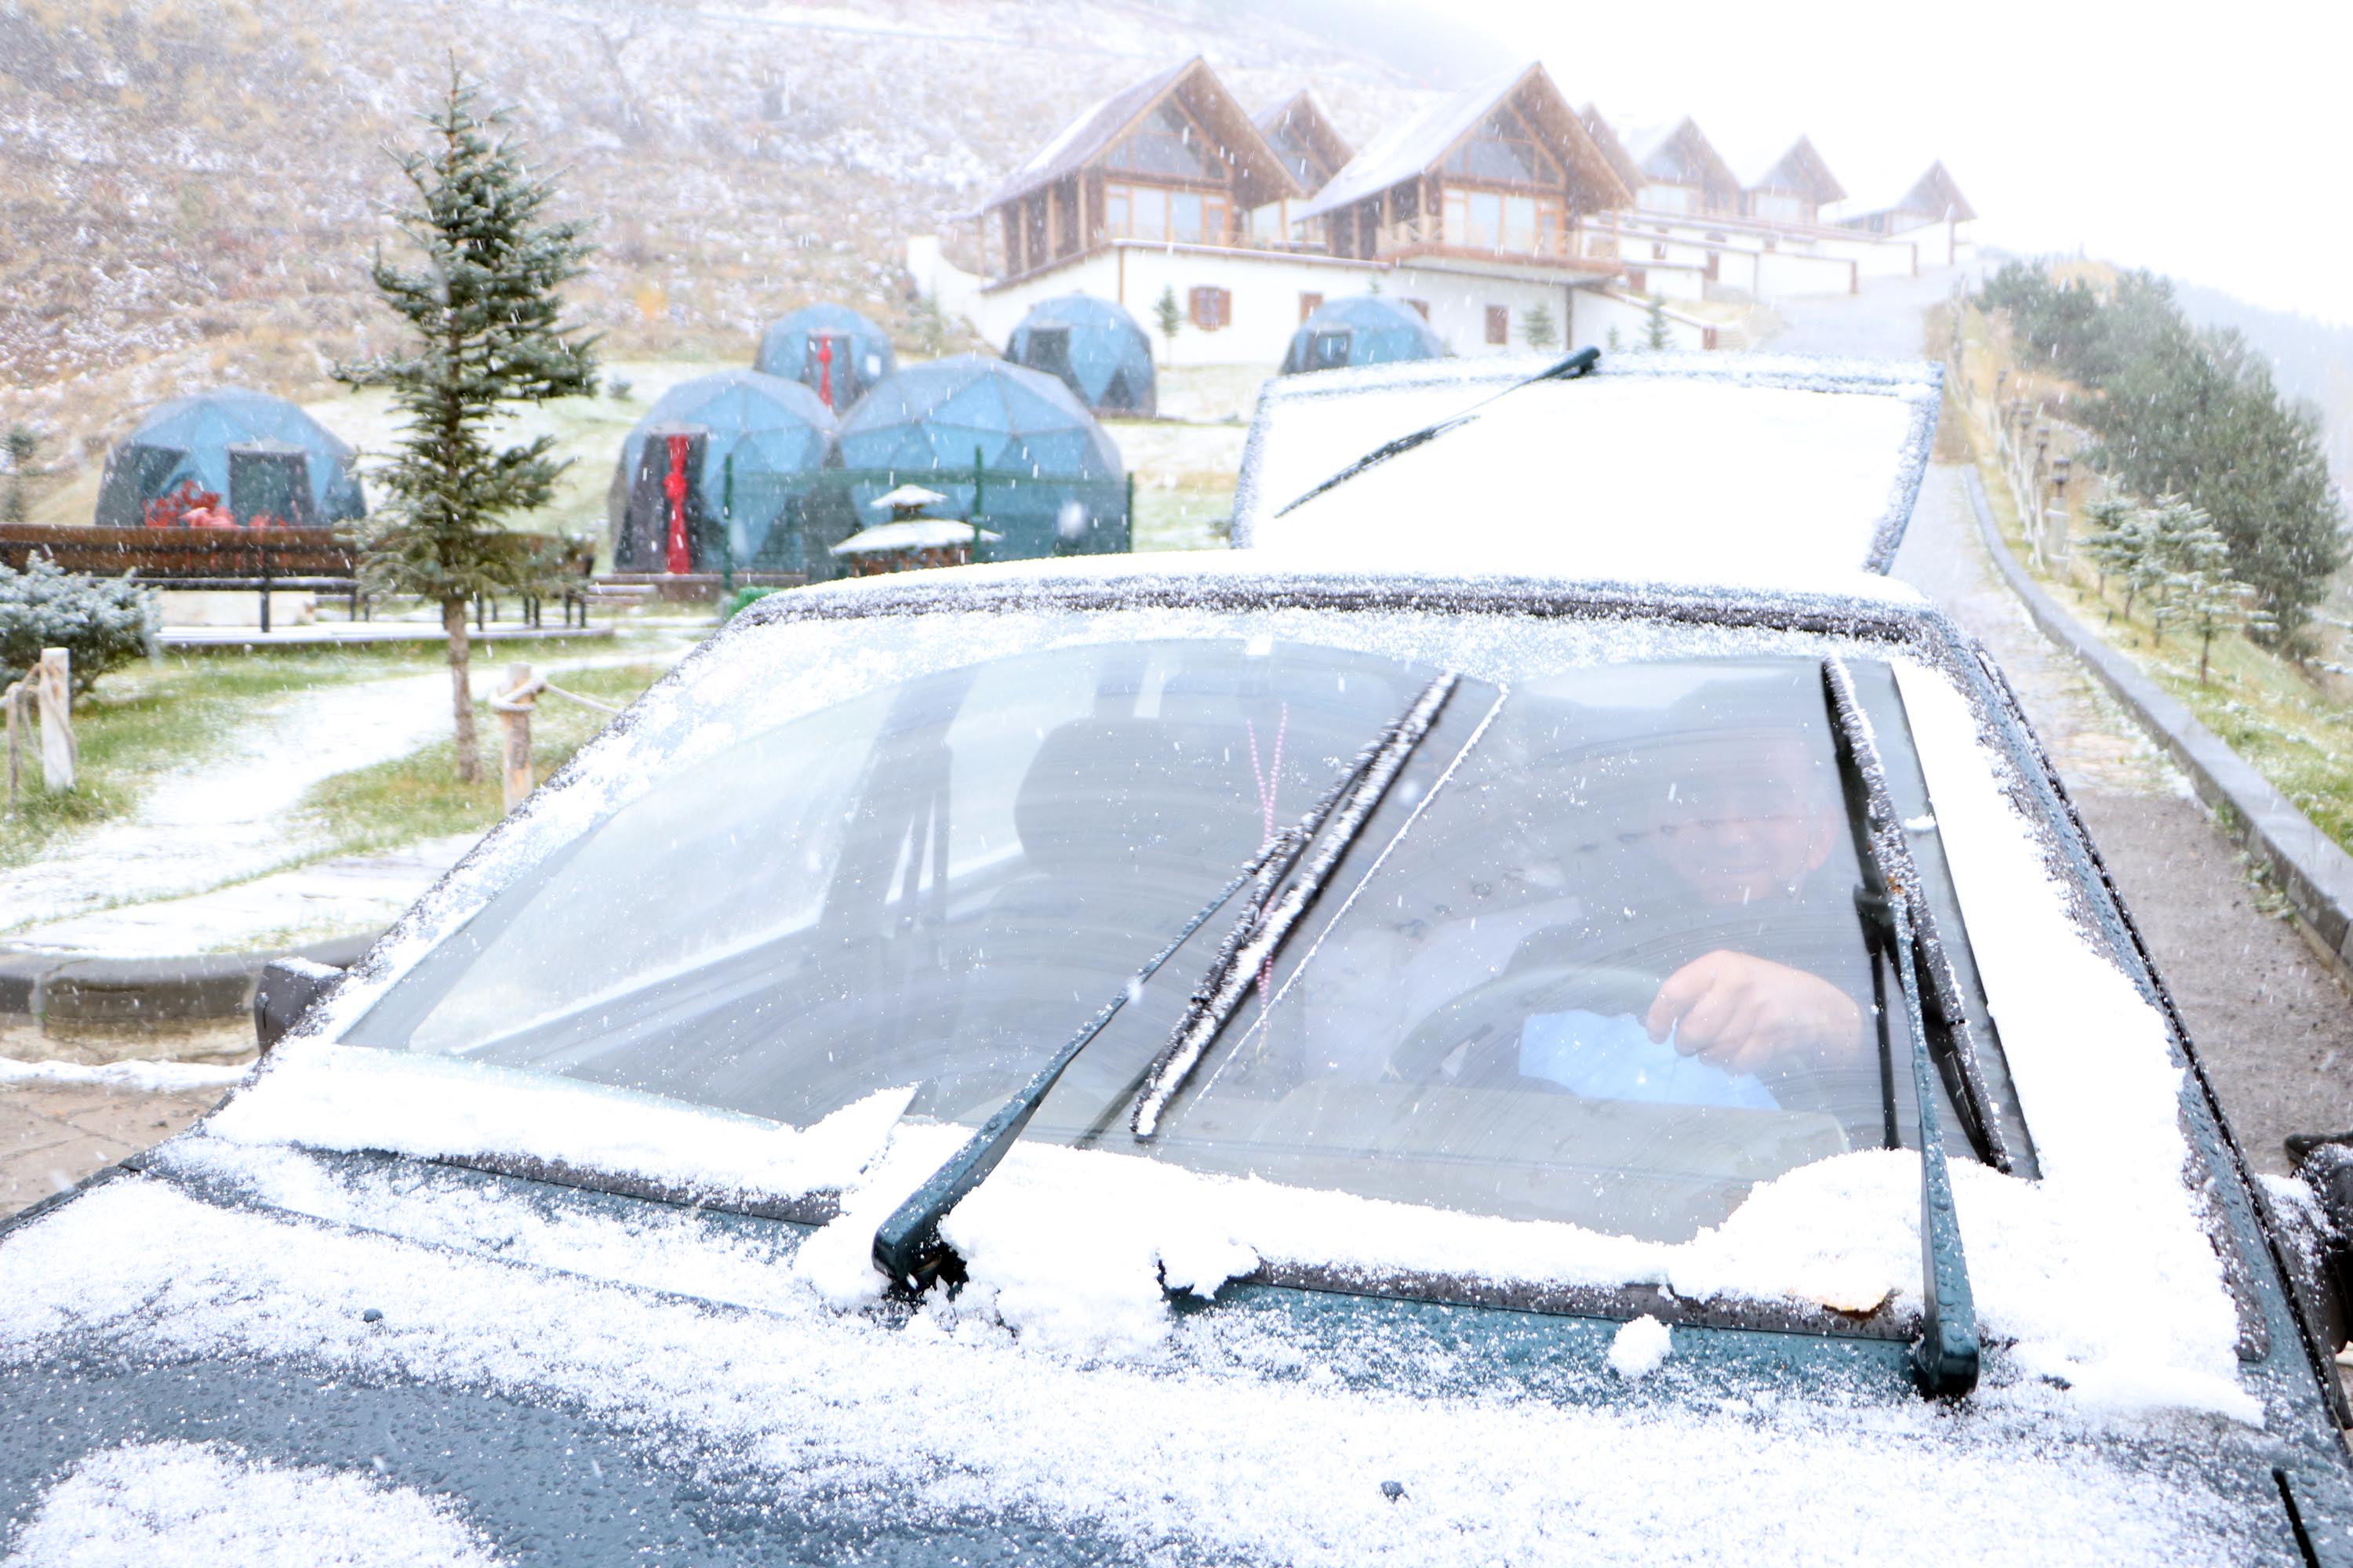
[[[840,1314],[807,1251],[186,1138],[9,1237],[0,1530],[28,1563],[158,1521],[240,1561],[2294,1561],[2261,1432],[2033,1382],[1946,1410],[1901,1345],[1793,1375],[1788,1335],[1261,1288],[1073,1356]]]

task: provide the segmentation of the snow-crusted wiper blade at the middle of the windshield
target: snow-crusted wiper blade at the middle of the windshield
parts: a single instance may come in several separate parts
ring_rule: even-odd
[[[1355,844],[1365,823],[1372,820],[1374,806],[1388,795],[1388,785],[1398,780],[1414,748],[1431,733],[1438,712],[1454,696],[1457,679],[1452,672],[1440,675],[1421,689],[1412,708],[1381,729],[1374,743],[1355,759],[1355,766],[1348,769],[1348,780],[1344,780],[1334,806],[1322,806],[1329,811],[1329,832],[1322,835],[1315,856],[1280,898],[1273,903],[1264,898],[1254,900],[1233,931],[1226,933],[1226,940],[1219,943],[1217,961],[1202,976],[1186,1016],[1176,1023],[1169,1044],[1160,1048],[1160,1056],[1153,1058],[1144,1077],[1144,1091],[1136,1095],[1136,1110],[1127,1124],[1136,1138],[1151,1138],[1160,1131],[1160,1117],[1169,1100],[1184,1088],[1186,1077],[1200,1065],[1202,1053],[1242,1006],[1249,987],[1280,957],[1282,943],[1299,926],[1299,919],[1315,907],[1315,898],[1332,877],[1332,867]],[[1311,823],[1313,816],[1301,820],[1292,835],[1299,849],[1306,849],[1306,842],[1322,830],[1322,823]],[[1292,853],[1297,856],[1299,849]]]

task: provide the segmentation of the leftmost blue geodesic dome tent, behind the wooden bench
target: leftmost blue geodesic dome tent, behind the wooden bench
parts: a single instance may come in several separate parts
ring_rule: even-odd
[[[285,397],[242,386],[188,393],[148,409],[106,454],[92,522],[136,529],[158,503],[165,503],[158,520],[176,522],[181,508],[167,498],[198,494],[219,496],[240,524],[351,522],[367,515],[353,458],[351,447]]]

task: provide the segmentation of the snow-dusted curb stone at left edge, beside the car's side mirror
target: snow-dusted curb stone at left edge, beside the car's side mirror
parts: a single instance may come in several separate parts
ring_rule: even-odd
[[[33,1023],[205,1023],[242,1018],[271,959],[306,957],[348,969],[376,936],[346,936],[278,952],[200,952],[94,959],[0,947],[0,1018]]]

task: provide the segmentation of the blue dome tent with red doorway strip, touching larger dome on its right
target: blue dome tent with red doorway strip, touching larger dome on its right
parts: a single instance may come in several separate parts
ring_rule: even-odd
[[[647,454],[654,435],[664,447]],[[668,437],[678,447],[687,494],[689,569],[805,571],[812,494],[833,449],[833,414],[798,381],[732,369],[680,381],[654,400],[621,442],[609,496],[614,571],[664,571],[671,508],[664,473]]]

